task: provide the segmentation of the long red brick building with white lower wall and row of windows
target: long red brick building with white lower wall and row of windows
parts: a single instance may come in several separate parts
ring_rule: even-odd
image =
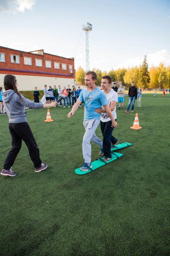
[[[0,46],[0,86],[7,74],[17,77],[19,90],[43,90],[47,86],[70,87],[75,84],[74,58],[65,58],[37,50],[23,52]]]

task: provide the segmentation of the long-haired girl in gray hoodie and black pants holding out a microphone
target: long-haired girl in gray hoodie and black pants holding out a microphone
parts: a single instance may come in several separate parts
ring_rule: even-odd
[[[11,168],[20,151],[22,140],[26,143],[29,150],[29,155],[34,163],[35,172],[41,172],[48,166],[40,160],[39,148],[29,124],[26,122],[24,106],[34,109],[55,107],[57,105],[57,102],[52,102],[51,104],[32,102],[18,92],[17,86],[18,84],[15,76],[6,75],[4,77],[4,87],[6,91],[2,93],[2,96],[6,107],[6,113],[9,117],[9,131],[12,137],[12,148],[6,157],[0,174],[11,177],[17,175],[16,172],[12,172]]]

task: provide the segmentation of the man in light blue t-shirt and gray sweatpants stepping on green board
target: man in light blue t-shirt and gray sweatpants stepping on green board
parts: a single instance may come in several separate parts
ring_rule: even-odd
[[[72,107],[72,111],[68,113],[68,117],[70,118],[72,115],[74,115],[79,105],[84,102],[85,111],[83,124],[86,132],[84,134],[82,144],[84,164],[81,167],[81,171],[86,172],[92,168],[90,140],[96,143],[100,148],[102,148],[102,141],[95,134],[95,130],[100,123],[100,113],[96,113],[95,109],[101,108],[101,106],[103,105],[112,121],[112,126],[114,128],[117,127],[117,122],[115,122],[112,112],[107,105],[106,95],[103,91],[95,86],[97,74],[94,71],[89,71],[86,73],[84,80],[86,84],[86,89],[81,91],[77,102]]]

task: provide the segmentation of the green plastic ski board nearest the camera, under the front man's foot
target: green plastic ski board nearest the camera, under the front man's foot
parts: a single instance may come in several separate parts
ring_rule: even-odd
[[[80,168],[78,168],[78,169],[75,169],[75,173],[78,174],[78,175],[85,175],[85,174],[87,174],[89,172],[92,172],[95,169],[98,169],[99,167],[104,166],[104,165],[106,165],[106,164],[108,164],[108,163],[110,163],[110,162],[112,162],[112,161],[114,161],[114,160],[116,160],[116,159],[118,159],[119,157],[122,157],[122,156],[123,156],[123,154],[120,154],[120,153],[117,153],[117,152],[116,153],[112,153],[112,159],[109,160],[108,162],[102,161],[102,159],[104,157],[103,158],[99,157],[98,160],[95,160],[95,161],[92,162],[92,169],[91,170],[89,169],[86,172],[82,172],[80,170]]]

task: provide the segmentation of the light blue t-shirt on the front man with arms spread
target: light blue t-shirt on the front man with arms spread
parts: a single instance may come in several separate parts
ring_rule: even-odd
[[[84,102],[84,120],[100,119],[101,114],[96,113],[95,109],[101,108],[102,105],[107,105],[107,98],[102,90],[98,89],[98,87],[95,87],[94,90],[89,92],[86,88],[81,91],[78,99],[81,102]]]

